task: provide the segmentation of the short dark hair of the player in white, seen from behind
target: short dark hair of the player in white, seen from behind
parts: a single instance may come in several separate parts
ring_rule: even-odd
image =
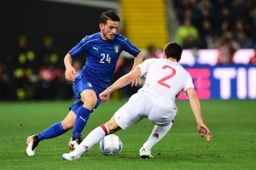
[[[164,47],[166,58],[177,59],[177,62],[181,59],[183,48],[177,42],[169,42]]]

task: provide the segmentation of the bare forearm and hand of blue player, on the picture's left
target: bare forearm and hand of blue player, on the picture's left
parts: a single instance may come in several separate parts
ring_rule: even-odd
[[[74,78],[76,77],[76,70],[73,68],[72,66],[72,57],[70,54],[67,54],[64,57],[64,65],[66,67],[66,71],[65,71],[65,77],[67,79],[67,81],[74,81]]]

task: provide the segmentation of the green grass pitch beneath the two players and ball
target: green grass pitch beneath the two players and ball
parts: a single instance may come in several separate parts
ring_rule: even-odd
[[[83,135],[108,121],[123,101],[110,100],[90,116]],[[179,114],[166,137],[152,150],[154,159],[143,160],[138,150],[153,124],[147,120],[116,133],[124,147],[118,156],[103,156],[99,144],[78,161],[62,161],[68,151],[72,131],[42,141],[36,155],[25,155],[26,137],[61,121],[73,101],[1,102],[0,169],[163,169],[235,170],[256,168],[255,100],[202,100],[201,111],[214,138],[207,142],[196,131],[195,118],[188,101],[177,101]],[[136,107],[136,106],[135,106]]]

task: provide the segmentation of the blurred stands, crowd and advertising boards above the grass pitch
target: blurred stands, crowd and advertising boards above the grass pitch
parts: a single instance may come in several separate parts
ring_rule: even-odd
[[[84,36],[99,31],[99,15],[115,9],[119,32],[162,57],[166,42],[183,45],[200,99],[256,99],[256,2],[253,0],[22,0],[3,1],[0,100],[73,99],[63,57]],[[81,56],[74,62],[79,70]],[[122,54],[113,81],[130,71]],[[137,88],[112,97],[124,99]],[[180,95],[179,99],[184,96]]]

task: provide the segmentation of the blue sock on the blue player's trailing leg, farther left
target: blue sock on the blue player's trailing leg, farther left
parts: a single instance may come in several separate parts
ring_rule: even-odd
[[[63,129],[61,122],[56,122],[49,128],[45,129],[42,133],[38,134],[38,139],[39,141],[44,140],[44,139],[51,139],[55,138],[66,131]]]

